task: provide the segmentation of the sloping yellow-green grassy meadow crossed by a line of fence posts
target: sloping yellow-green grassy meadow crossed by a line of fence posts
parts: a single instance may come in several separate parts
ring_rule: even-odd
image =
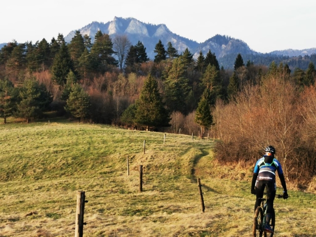
[[[74,236],[78,191],[85,237],[251,236],[252,167],[220,166],[213,140],[166,134],[163,144],[164,133],[66,120],[9,122],[0,134],[0,237]],[[275,200],[275,236],[316,237],[315,194],[288,193]]]

